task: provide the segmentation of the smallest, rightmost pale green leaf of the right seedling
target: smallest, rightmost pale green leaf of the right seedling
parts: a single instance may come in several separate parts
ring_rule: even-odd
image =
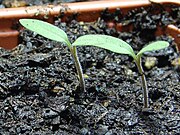
[[[156,42],[152,42],[150,44],[148,44],[147,46],[145,46],[144,48],[142,48],[139,53],[137,54],[137,56],[140,56],[141,54],[143,54],[144,52],[148,52],[148,51],[155,51],[155,50],[160,50],[163,48],[166,48],[169,46],[169,43],[166,41],[156,41]]]

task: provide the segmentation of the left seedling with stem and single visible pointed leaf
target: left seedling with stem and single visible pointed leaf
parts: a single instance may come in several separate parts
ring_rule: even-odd
[[[80,80],[80,88],[82,91],[85,92],[85,82],[84,82],[82,67],[77,56],[77,49],[76,46],[72,46],[72,44],[68,39],[67,34],[60,28],[44,21],[40,21],[36,19],[20,19],[19,22],[25,28],[34,31],[43,37],[46,37],[48,39],[57,42],[65,43],[68,46],[70,53],[75,62],[76,70]]]

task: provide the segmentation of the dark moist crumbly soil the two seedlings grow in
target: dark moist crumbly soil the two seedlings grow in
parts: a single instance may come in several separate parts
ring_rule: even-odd
[[[152,16],[151,10],[155,9],[134,10],[126,20],[106,12],[94,23],[55,21],[71,41],[87,33],[107,34],[125,40],[136,51],[154,40],[168,41],[167,49],[143,56],[143,66],[147,58],[156,58],[151,69],[144,66],[150,111],[142,112],[140,78],[131,57],[78,47],[87,90],[78,97],[79,81],[68,48],[26,30],[15,49],[0,50],[0,134],[178,135],[180,74],[179,66],[171,62],[179,54],[172,38],[153,33],[157,24],[177,22],[179,16],[165,11]],[[108,16],[133,24],[134,30],[108,28],[104,21]]]

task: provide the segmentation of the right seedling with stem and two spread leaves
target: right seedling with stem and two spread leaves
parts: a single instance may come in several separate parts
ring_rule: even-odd
[[[124,42],[121,39],[107,35],[85,35],[79,37],[73,43],[73,46],[86,46],[86,45],[92,45],[92,46],[104,48],[115,53],[128,54],[133,57],[134,62],[136,63],[138,71],[141,75],[144,108],[148,108],[149,107],[148,88],[147,88],[146,77],[142,68],[141,56],[144,52],[155,51],[166,48],[169,46],[169,43],[166,41],[152,42],[146,45],[144,48],[142,48],[137,54],[134,53],[134,50],[128,43]]]

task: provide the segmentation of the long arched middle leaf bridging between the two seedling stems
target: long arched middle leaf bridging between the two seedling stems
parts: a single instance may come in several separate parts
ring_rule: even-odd
[[[76,39],[73,46],[95,46],[135,58],[132,47],[121,39],[108,35],[85,35]]]

